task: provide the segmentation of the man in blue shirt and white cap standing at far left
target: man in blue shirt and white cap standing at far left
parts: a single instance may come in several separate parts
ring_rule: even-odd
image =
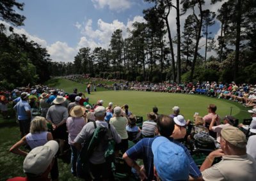
[[[22,92],[20,96],[20,101],[13,107],[15,112],[17,112],[19,126],[20,126],[20,138],[23,138],[29,133],[29,127],[31,122],[31,107],[28,103],[27,92]]]

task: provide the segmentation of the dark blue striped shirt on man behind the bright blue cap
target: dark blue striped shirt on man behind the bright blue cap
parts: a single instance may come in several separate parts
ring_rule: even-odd
[[[143,164],[145,166],[146,175],[148,177],[147,180],[154,180],[154,155],[152,152],[152,143],[155,140],[155,138],[157,138],[157,136],[155,136],[154,138],[143,138],[138,143],[136,143],[136,145],[129,148],[129,150],[127,150],[127,152],[126,152],[127,156],[129,158],[131,158],[132,160],[143,159]],[[193,160],[191,154],[189,153],[188,148],[186,148],[179,141],[173,140],[173,138],[168,138],[168,139],[170,141],[172,141],[173,143],[182,147],[184,149],[184,151],[186,152],[186,154],[189,158],[189,163],[190,163],[189,175],[193,178],[201,177],[202,173],[196,166],[196,163]]]

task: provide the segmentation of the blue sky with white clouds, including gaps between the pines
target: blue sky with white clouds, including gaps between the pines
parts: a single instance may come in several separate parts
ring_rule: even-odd
[[[26,17],[24,26],[15,31],[26,34],[29,40],[46,47],[52,61],[73,62],[74,56],[81,47],[108,48],[111,34],[115,29],[122,29],[127,37],[127,27],[132,22],[143,22],[143,9],[150,4],[143,0],[17,0],[25,3]],[[209,2],[204,8],[218,10],[221,3],[212,6]],[[180,17],[183,26],[186,15]],[[176,34],[175,11],[169,17],[172,35]],[[220,34],[220,24],[211,28],[213,35]],[[201,45],[204,45],[204,38]],[[204,46],[200,50],[204,54]],[[209,53],[211,54],[211,53]],[[212,53],[214,55],[214,53]]]

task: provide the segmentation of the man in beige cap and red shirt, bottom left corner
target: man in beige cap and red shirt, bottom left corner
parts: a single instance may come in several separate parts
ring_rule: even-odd
[[[54,156],[58,152],[59,145],[56,141],[51,140],[45,143],[44,146],[36,147],[31,150],[23,163],[23,171],[26,173],[26,178],[15,177],[8,181],[15,180],[51,180],[48,175],[54,164]]]

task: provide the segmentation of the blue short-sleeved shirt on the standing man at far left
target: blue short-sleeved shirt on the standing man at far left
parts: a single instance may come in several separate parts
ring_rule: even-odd
[[[28,101],[20,100],[19,103],[13,107],[13,109],[17,112],[18,120],[30,119],[27,113],[27,111],[31,110]]]

